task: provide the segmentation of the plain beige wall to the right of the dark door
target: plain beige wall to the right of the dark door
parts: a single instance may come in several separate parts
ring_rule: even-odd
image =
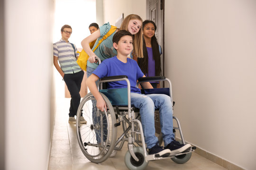
[[[255,49],[255,0],[165,0],[165,74],[185,140],[247,170],[256,168]]]

